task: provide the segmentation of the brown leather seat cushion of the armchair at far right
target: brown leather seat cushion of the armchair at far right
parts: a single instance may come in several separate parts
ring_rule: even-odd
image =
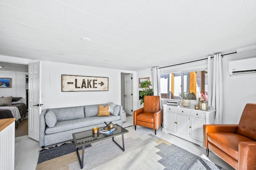
[[[240,142],[253,141],[242,135],[227,132],[211,132],[207,133],[207,139],[214,144],[218,149],[238,160],[238,145]]]

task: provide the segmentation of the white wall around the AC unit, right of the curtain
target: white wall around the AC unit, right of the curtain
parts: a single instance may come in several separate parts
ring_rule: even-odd
[[[238,124],[246,103],[256,103],[256,74],[239,76],[228,74],[229,61],[251,57],[256,57],[256,49],[226,55],[222,58],[224,124]]]

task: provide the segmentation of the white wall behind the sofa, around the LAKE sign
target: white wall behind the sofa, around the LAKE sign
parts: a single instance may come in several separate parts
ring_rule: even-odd
[[[121,104],[121,72],[109,68],[42,62],[42,109],[113,102]],[[108,77],[108,91],[62,92],[61,75]]]

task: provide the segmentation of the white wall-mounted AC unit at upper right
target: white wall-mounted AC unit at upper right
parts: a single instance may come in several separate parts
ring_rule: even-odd
[[[256,74],[256,57],[230,61],[228,63],[228,72],[230,76]]]

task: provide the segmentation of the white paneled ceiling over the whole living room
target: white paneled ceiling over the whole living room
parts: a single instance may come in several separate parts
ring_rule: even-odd
[[[141,70],[255,44],[256,0],[0,0],[5,56]]]

